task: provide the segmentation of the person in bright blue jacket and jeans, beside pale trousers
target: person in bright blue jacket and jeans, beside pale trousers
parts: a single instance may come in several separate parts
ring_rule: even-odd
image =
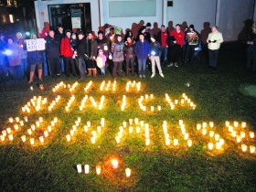
[[[138,73],[140,79],[145,79],[145,63],[147,57],[150,56],[149,51],[149,43],[144,39],[144,34],[139,34],[139,40],[135,44],[134,53],[138,59]]]

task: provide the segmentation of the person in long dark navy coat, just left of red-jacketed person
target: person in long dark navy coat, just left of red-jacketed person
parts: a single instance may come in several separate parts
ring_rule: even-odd
[[[46,53],[49,65],[49,72],[52,78],[60,76],[59,65],[59,40],[54,37],[54,31],[49,30],[46,40]]]

